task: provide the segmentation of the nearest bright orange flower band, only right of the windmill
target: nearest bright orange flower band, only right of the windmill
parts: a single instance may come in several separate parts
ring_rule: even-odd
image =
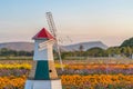
[[[98,89],[108,88],[116,89],[116,87],[127,87],[127,89],[133,88],[133,76],[123,76],[123,75],[93,75],[93,76],[62,76],[62,83],[64,86],[85,89]],[[115,88],[113,88],[115,87]],[[71,88],[70,88],[71,89]]]

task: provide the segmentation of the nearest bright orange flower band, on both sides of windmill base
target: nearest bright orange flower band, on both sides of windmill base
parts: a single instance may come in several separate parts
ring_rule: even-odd
[[[27,77],[0,77],[0,89],[7,88],[13,89],[19,88],[23,89]],[[133,86],[133,76],[124,75],[89,75],[89,76],[61,76],[63,86],[74,86],[74,87],[85,87],[89,86],[93,89],[96,85],[108,86],[108,85],[121,85],[121,86]],[[13,88],[9,88],[13,87]],[[70,88],[71,89],[71,88]]]

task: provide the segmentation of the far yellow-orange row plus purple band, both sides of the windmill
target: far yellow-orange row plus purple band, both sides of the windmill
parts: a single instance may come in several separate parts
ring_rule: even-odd
[[[61,75],[133,75],[133,65],[64,65],[64,71],[61,66],[55,63],[58,73]],[[29,75],[31,65],[29,63],[13,63],[0,65],[0,77]]]

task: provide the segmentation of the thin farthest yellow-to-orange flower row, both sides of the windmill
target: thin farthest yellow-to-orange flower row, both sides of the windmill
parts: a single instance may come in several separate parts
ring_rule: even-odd
[[[64,68],[69,69],[96,69],[96,68],[105,68],[106,65],[63,65]],[[129,69],[133,68],[133,65],[109,65],[110,68],[120,68],[120,69]],[[31,69],[31,65],[29,63],[13,63],[13,65],[0,65],[0,69]],[[55,68],[61,68],[59,63],[55,63]]]

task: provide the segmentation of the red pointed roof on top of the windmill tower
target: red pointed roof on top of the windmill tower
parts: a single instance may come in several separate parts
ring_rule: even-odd
[[[52,34],[47,31],[45,28],[42,28],[42,30],[40,32],[38,32],[33,39],[53,39]]]

